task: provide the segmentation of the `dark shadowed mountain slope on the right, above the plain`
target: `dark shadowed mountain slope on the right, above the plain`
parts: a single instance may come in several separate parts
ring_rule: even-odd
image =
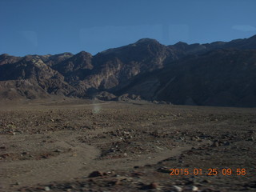
[[[256,106],[255,79],[256,50],[214,50],[133,78],[118,94],[180,105]]]

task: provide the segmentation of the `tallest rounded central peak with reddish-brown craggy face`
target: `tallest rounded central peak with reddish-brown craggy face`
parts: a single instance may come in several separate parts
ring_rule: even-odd
[[[85,82],[100,90],[110,89],[175,59],[178,58],[168,47],[154,39],[143,38],[134,44],[96,54],[92,60],[94,69]]]

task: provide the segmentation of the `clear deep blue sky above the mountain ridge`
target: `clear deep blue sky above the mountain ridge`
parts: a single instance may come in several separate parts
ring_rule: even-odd
[[[255,0],[0,0],[0,54],[97,54],[140,38],[164,45],[249,38]]]

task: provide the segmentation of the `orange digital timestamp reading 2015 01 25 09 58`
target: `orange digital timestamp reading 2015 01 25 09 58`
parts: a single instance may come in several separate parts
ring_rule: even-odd
[[[170,169],[170,175],[171,176],[177,176],[177,175],[209,175],[209,176],[215,176],[215,175],[239,175],[239,176],[245,176],[246,175],[246,169],[244,168],[237,168],[237,169],[230,169],[230,168],[222,168],[222,169],[214,169],[209,168],[206,170],[203,169],[178,169],[178,168],[172,168]]]

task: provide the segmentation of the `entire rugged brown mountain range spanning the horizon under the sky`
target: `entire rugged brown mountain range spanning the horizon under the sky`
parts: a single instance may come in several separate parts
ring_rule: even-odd
[[[146,99],[198,106],[256,106],[256,35],[164,46],[142,38],[91,55],[0,55],[0,98],[51,95]]]

